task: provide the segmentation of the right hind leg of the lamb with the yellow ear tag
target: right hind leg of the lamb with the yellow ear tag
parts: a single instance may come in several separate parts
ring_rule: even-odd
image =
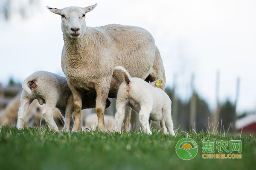
[[[151,109],[152,110],[152,109]],[[143,131],[145,133],[148,133],[151,135],[151,130],[149,127],[149,115],[151,113],[151,110],[148,107],[141,107],[140,113],[139,113],[139,119],[140,119],[140,124],[143,128]]]

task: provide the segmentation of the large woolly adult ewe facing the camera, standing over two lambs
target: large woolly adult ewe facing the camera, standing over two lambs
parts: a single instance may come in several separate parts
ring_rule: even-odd
[[[97,4],[49,11],[61,15],[64,47],[61,56],[62,71],[67,77],[74,97],[75,122],[73,131],[81,130],[81,90],[96,92],[96,113],[99,128],[105,130],[104,109],[107,97],[116,98],[121,74],[113,74],[115,66],[123,66],[131,77],[153,82],[164,79],[160,52],[152,35],[143,28],[111,24],[87,27],[85,14]],[[131,108],[127,107],[124,128],[128,130]]]

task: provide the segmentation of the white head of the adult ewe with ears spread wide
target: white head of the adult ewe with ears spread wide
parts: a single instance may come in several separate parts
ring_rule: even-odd
[[[70,41],[77,41],[83,37],[86,24],[85,13],[92,11],[97,6],[97,3],[93,6],[81,7],[67,7],[67,8],[50,8],[49,11],[54,14],[61,15],[61,29],[64,36]]]

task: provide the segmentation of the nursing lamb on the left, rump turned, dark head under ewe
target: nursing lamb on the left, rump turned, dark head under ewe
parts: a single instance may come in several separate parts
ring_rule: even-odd
[[[51,130],[58,131],[58,126],[53,120],[52,113],[54,108],[58,108],[65,117],[64,131],[69,130],[70,121],[72,119],[73,96],[67,85],[64,76],[54,74],[47,71],[38,71],[27,77],[22,84],[23,92],[21,95],[21,106],[18,112],[17,127],[23,128],[24,119],[27,115],[29,105],[34,99],[37,99],[40,105],[45,103],[42,111],[45,121]],[[82,91],[82,109],[95,108],[95,95],[87,94]],[[107,100],[108,108],[110,101]]]

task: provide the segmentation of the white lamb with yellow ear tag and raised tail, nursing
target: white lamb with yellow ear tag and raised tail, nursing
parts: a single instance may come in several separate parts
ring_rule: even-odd
[[[172,102],[169,96],[159,88],[162,79],[148,83],[143,79],[133,77],[121,66],[113,69],[114,72],[121,72],[125,81],[119,87],[116,98],[115,129],[121,130],[122,121],[125,117],[125,107],[128,105],[133,108],[140,116],[140,123],[145,133],[151,134],[148,120],[161,121],[164,119],[164,133],[174,134],[171,117]]]

